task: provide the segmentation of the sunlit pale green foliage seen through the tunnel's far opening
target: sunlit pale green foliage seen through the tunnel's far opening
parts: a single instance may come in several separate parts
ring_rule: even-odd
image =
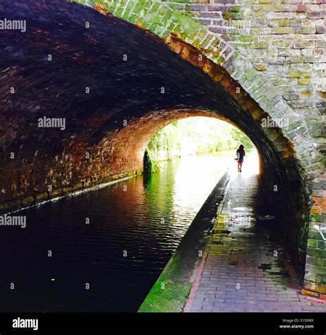
[[[144,167],[160,168],[160,161],[179,156],[234,150],[243,144],[252,148],[250,139],[229,123],[208,117],[190,117],[175,121],[157,132],[146,148]]]

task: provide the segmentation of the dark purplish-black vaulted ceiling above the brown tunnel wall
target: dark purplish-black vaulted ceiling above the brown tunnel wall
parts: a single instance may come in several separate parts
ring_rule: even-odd
[[[36,141],[42,136],[37,127],[42,116],[66,118],[61,136],[78,129],[95,141],[121,128],[123,119],[166,108],[217,110],[245,131],[252,127],[220,85],[129,23],[63,0],[4,1],[1,6],[3,17],[14,13],[27,21],[26,32],[3,30],[0,41],[1,115],[19,131],[18,141],[19,134]],[[99,123],[91,132],[90,119]]]

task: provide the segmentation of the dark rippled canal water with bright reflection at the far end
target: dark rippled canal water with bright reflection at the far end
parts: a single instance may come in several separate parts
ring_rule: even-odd
[[[1,227],[1,312],[135,312],[234,152],[45,203]]]

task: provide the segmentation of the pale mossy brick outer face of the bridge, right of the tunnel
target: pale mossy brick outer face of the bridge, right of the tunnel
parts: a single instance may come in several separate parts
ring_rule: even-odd
[[[323,228],[326,209],[323,174],[326,5],[323,1],[107,0],[88,3],[99,11],[109,10],[138,24],[168,42],[171,33],[175,34],[226,69],[264,112],[275,119],[287,119],[289,125],[282,132],[294,143],[307,193],[318,195],[311,199],[314,205],[309,219],[312,223],[318,221]],[[189,55],[182,48],[175,51],[194,63],[194,54]],[[195,65],[198,64],[195,62]],[[209,74],[210,69],[204,68],[204,72]],[[300,199],[293,196],[292,200],[290,207]],[[325,241],[311,241],[312,236],[320,236],[312,223],[309,223],[308,241],[312,245],[307,248],[307,264],[312,264],[305,268],[305,287],[324,292],[320,285],[325,285]],[[305,240],[306,229],[302,236]],[[294,243],[305,249],[304,242],[292,237]]]

